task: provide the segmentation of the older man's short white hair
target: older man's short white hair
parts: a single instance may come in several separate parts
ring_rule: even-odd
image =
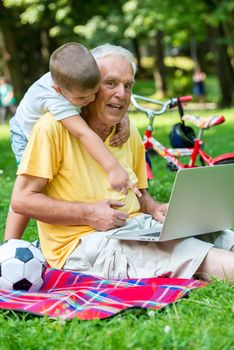
[[[104,44],[95,47],[93,50],[91,50],[91,53],[93,57],[95,58],[96,62],[104,57],[107,56],[121,56],[127,59],[127,61],[131,64],[133,74],[136,74],[137,66],[135,63],[135,59],[133,54],[125,49],[122,46],[117,46],[117,45],[111,45],[111,44]]]

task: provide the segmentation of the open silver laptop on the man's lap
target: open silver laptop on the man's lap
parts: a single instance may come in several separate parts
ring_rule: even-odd
[[[234,164],[177,172],[163,224],[155,229],[114,231],[109,239],[168,241],[234,226]]]

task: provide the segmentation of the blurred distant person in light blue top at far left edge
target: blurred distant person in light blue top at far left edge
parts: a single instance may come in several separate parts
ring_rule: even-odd
[[[0,77],[0,124],[5,123],[7,114],[15,114],[16,100],[12,84],[5,77]]]

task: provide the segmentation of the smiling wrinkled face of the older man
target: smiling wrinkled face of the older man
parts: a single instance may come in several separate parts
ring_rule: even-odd
[[[131,64],[121,56],[107,56],[98,62],[101,73],[101,84],[94,107],[103,122],[115,125],[127,112],[134,75]],[[92,113],[92,112],[91,112]]]

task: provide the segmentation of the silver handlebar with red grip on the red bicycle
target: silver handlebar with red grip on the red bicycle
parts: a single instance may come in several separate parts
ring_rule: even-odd
[[[155,109],[144,107],[138,103],[138,100],[141,102],[148,102],[151,104],[161,106],[161,109],[155,110]],[[179,101],[183,103],[183,102],[188,102],[191,100],[192,100],[192,96],[174,97],[174,98],[171,98],[165,102],[154,100],[152,98],[148,98],[148,97],[144,97],[144,96],[140,96],[140,95],[136,95],[136,94],[132,94],[132,96],[131,96],[131,102],[132,102],[133,106],[136,109],[138,109],[139,111],[147,113],[148,116],[161,115],[161,114],[166,112],[167,108],[171,109],[173,107],[178,106]]]

